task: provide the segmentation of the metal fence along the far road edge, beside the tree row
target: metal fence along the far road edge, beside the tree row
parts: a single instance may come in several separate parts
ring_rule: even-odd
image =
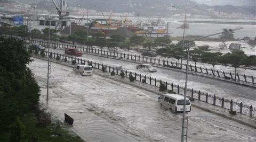
[[[25,39],[25,42],[29,43],[28,39]],[[49,41],[44,41],[41,39],[32,39],[31,42],[38,43],[39,45],[42,46],[49,46]],[[122,52],[116,52],[116,51],[111,51],[111,50],[102,50],[102,49],[96,49],[92,47],[83,47],[81,45],[72,45],[69,43],[61,43],[57,41],[52,41],[50,42],[50,47],[53,48],[75,48],[90,54],[96,54],[96,55],[101,55],[101,56],[107,56],[111,58],[121,58],[121,59],[126,59],[126,60],[132,60],[132,61],[140,61],[143,63],[150,63],[150,64],[155,64],[155,65],[162,65],[164,67],[169,67],[169,68],[180,68],[177,62],[169,61],[169,60],[162,60],[159,58],[153,58],[153,57],[145,57],[145,56],[140,56],[140,55],[133,55],[133,54],[124,54]],[[182,69],[186,70],[187,64],[182,64]],[[191,64],[189,65],[188,70],[190,72],[195,72],[198,74],[204,74],[212,77],[220,77],[224,78],[225,80],[231,80],[235,82],[243,82],[243,83],[250,83],[255,85],[255,79],[256,77],[254,76],[249,76],[249,75],[242,75],[242,74],[234,74],[231,72],[224,72],[224,71],[219,71],[219,70],[214,70],[214,69],[209,69],[209,68],[204,68],[201,66],[192,66]]]

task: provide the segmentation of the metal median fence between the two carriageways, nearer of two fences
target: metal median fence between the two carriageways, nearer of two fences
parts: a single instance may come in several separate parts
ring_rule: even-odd
[[[46,56],[49,56],[49,53],[45,52]],[[100,63],[96,63],[95,61],[85,60],[82,58],[74,57],[74,56],[68,56],[63,54],[58,54],[55,52],[50,52],[50,55],[52,55],[52,58],[56,58],[57,56],[60,57],[60,60],[71,62],[73,60],[76,61],[76,64],[84,64],[84,65],[90,65],[94,69],[101,69],[102,67],[105,68],[106,72],[115,72],[116,75],[121,76],[121,73],[124,73],[124,77],[129,78],[129,75],[134,76],[135,81],[139,81],[141,83],[150,84],[156,87],[159,87],[162,83],[166,85],[167,91],[172,91],[178,94],[184,95],[185,88],[181,87],[180,85],[175,85],[173,83],[162,81],[162,79],[153,78],[151,76],[146,76],[138,73],[132,73],[127,70],[121,69],[116,70],[115,67],[111,67],[108,65],[103,65]],[[256,117],[256,107],[253,107],[252,105],[246,105],[242,102],[234,102],[233,100],[225,99],[224,97],[218,97],[215,94],[209,94],[207,92],[197,91],[193,88],[187,88],[186,90],[187,96],[199,101],[203,101],[215,106],[220,106],[221,108],[225,108],[228,110],[233,110],[238,113],[246,114],[250,117]]]

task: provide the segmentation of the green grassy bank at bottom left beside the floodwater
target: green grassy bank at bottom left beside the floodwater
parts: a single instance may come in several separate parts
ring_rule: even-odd
[[[56,127],[56,123],[52,122],[47,127],[37,127],[34,113],[27,113],[21,121],[26,127],[24,140],[27,141],[84,141],[79,136],[65,130],[64,124]],[[8,139],[9,132],[0,133],[0,141],[8,141]]]

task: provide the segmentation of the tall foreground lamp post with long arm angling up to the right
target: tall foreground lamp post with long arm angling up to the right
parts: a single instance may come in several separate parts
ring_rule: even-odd
[[[210,34],[209,36],[204,36],[201,38],[196,38],[193,40],[189,40],[189,47],[188,47],[188,55],[187,55],[187,66],[186,66],[186,79],[185,79],[185,88],[184,88],[184,104],[183,104],[183,117],[182,117],[182,131],[181,131],[181,141],[183,142],[184,139],[184,128],[185,128],[185,113],[186,113],[186,97],[187,97],[187,84],[188,84],[188,64],[189,64],[189,49],[190,49],[190,41],[195,41],[198,39],[203,39],[203,38],[207,38],[207,37],[211,37],[211,36],[215,36],[217,34],[221,34],[221,33],[230,33],[236,30],[241,30],[243,29],[243,27],[238,27],[236,29],[229,29],[228,31],[224,31],[224,32],[218,32],[218,33],[214,33],[214,34]],[[187,137],[187,135],[186,135]],[[187,139],[187,138],[186,138]]]

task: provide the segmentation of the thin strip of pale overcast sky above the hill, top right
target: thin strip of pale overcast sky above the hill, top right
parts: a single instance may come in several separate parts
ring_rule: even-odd
[[[198,2],[199,4],[207,4],[207,5],[235,5],[235,6],[243,6],[243,5],[254,5],[255,6],[255,0],[191,0]]]

